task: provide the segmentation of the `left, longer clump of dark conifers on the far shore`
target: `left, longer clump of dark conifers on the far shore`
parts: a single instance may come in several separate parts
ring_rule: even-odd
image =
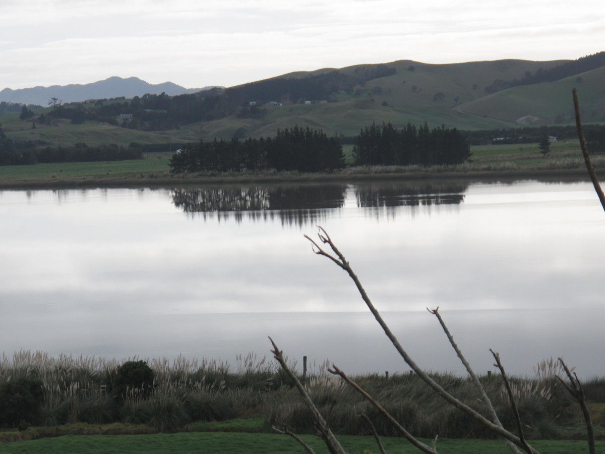
[[[169,165],[172,173],[263,169],[319,172],[344,167],[344,155],[338,137],[295,126],[278,130],[275,137],[190,143],[171,157]]]

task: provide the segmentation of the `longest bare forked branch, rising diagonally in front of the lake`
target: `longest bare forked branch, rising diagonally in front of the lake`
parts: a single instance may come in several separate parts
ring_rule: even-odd
[[[322,229],[321,227],[319,229],[321,232],[320,235],[322,238],[322,242],[325,240],[325,242],[330,245],[330,247],[335,252],[335,254],[338,255],[339,258],[341,258],[341,264],[339,264],[339,266],[342,269],[344,269],[348,273],[348,275],[352,278],[353,282],[355,283],[355,286],[357,287],[357,289],[359,291],[359,294],[361,295],[362,300],[364,300],[366,306],[368,306],[368,309],[370,309],[370,312],[372,313],[372,315],[374,315],[374,318],[376,318],[376,321],[378,321],[378,324],[382,327],[382,330],[384,331],[384,333],[387,335],[387,337],[389,338],[389,340],[391,341],[393,346],[397,349],[397,352],[399,352],[401,357],[404,358],[405,363],[407,363],[408,366],[410,366],[411,369],[414,370],[414,372],[416,372],[418,377],[420,377],[420,379],[422,379],[422,381],[427,383],[428,386],[433,388],[433,390],[438,395],[440,395],[446,402],[448,402],[452,406],[456,407],[457,409],[462,410],[467,415],[471,416],[471,418],[475,419],[480,424],[483,424],[483,426],[486,426],[492,432],[496,433],[499,436],[502,436],[502,438],[508,439],[509,441],[511,441],[515,445],[517,445],[518,447],[525,449],[525,447],[523,446],[523,444],[522,444],[521,440],[518,438],[518,436],[516,436],[514,433],[509,432],[506,429],[503,429],[503,427],[500,427],[497,424],[492,423],[491,421],[489,421],[489,419],[485,418],[485,416],[483,416],[481,413],[472,409],[471,407],[469,407],[468,405],[466,405],[465,403],[463,403],[462,401],[460,401],[459,399],[455,398],[453,395],[448,393],[445,389],[443,389],[443,387],[439,383],[437,383],[431,377],[429,377],[428,374],[426,372],[424,372],[424,370],[422,370],[416,364],[416,362],[414,360],[412,360],[410,355],[408,355],[408,353],[401,346],[401,344],[399,343],[399,341],[397,340],[397,338],[395,337],[393,332],[391,332],[391,329],[388,327],[387,323],[385,323],[385,321],[383,320],[382,316],[380,315],[380,312],[378,312],[378,310],[374,307],[374,304],[372,304],[370,298],[368,297],[367,293],[365,292],[365,289],[361,285],[359,278],[357,277],[355,272],[353,272],[353,269],[351,268],[349,263],[344,259],[344,256],[341,254],[340,251],[338,251],[336,246],[333,245],[332,240],[330,239],[329,236],[327,236],[327,234],[325,233],[325,230]],[[532,453],[535,454],[535,453],[537,453],[537,451],[532,449]]]

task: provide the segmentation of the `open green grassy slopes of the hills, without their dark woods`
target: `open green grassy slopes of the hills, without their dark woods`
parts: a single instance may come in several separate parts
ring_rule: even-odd
[[[584,122],[604,122],[605,85],[601,81],[605,76],[605,67],[556,82],[521,85],[493,94],[486,91],[486,87],[495,80],[521,79],[524,74],[548,70],[563,62],[567,61],[511,59],[433,65],[401,60],[382,65],[395,70],[390,75],[369,80],[367,74],[372,74],[381,65],[299,71],[267,81],[304,79],[338,71],[350,77],[348,80],[365,82],[353,87],[349,85],[345,90],[331,94],[333,102],[293,104],[292,101],[296,100],[288,102],[287,96],[284,99],[283,94],[275,93],[275,100],[284,100],[284,105],[259,104],[260,113],[248,117],[237,114],[219,116],[214,120],[180,123],[180,128],[166,131],[133,130],[90,120],[73,125],[65,119],[55,119],[51,125],[38,122],[33,129],[31,121],[19,120],[16,113],[1,116],[0,122],[11,139],[42,140],[53,146],[73,145],[76,142],[85,142],[89,146],[102,143],[128,145],[130,142],[179,143],[212,140],[215,137],[230,139],[236,133],[239,137],[272,136],[278,128],[294,125],[321,128],[328,134],[354,136],[372,122],[391,122],[396,127],[402,127],[407,122],[420,125],[426,121],[430,127],[446,125],[463,130],[492,130],[517,125],[572,122],[573,86],[580,91]],[[273,86],[280,85],[270,85]],[[240,86],[243,90],[241,99],[257,93],[250,89],[252,91],[246,94],[246,87]],[[272,91],[267,93],[273,96]],[[111,101],[106,104],[111,104]],[[243,105],[247,105],[247,102]],[[93,107],[87,105],[85,108]]]

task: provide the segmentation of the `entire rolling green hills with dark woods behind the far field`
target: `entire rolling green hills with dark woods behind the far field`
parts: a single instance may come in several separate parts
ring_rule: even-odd
[[[126,99],[87,94],[96,100],[34,109],[31,122],[17,118],[20,106],[4,116],[0,109],[0,122],[13,140],[54,145],[259,137],[294,125],[352,137],[372,122],[498,130],[572,124],[571,88],[576,86],[584,122],[603,123],[603,76],[605,52],[544,62],[400,60],[298,71],[174,96],[167,87],[163,94]]]

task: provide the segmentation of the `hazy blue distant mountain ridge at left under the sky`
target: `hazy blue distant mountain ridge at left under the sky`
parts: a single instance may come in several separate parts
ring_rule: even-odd
[[[143,96],[145,93],[166,93],[169,96],[176,96],[178,94],[197,93],[198,91],[209,90],[210,88],[214,87],[185,88],[172,82],[149,84],[138,77],[123,78],[113,76],[91,84],[51,85],[50,87],[18,88],[17,90],[4,88],[4,90],[0,91],[0,102],[45,106],[52,97],[56,97],[62,102],[79,102],[87,99],[120,96],[131,98],[134,96]]]

